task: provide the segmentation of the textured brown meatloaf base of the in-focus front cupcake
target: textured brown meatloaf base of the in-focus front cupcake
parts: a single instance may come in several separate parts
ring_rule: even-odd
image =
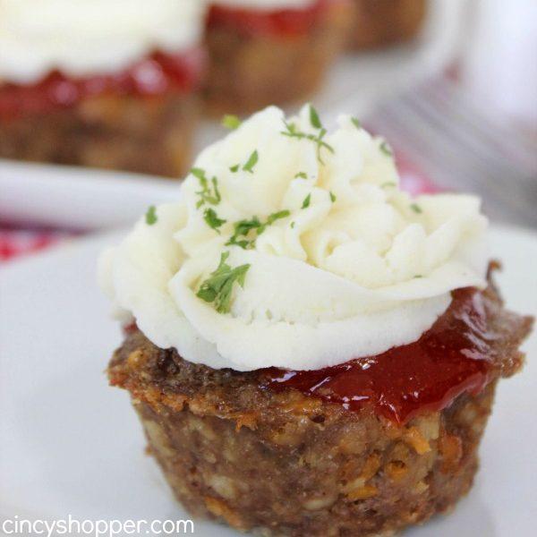
[[[262,371],[213,370],[152,345],[140,331],[110,362],[151,452],[193,514],[295,537],[390,535],[445,512],[470,489],[499,377],[518,371],[532,319],[485,293],[491,382],[404,426],[292,388],[260,388]]]

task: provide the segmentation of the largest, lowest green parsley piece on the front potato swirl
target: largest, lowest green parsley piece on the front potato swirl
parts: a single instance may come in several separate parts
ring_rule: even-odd
[[[244,286],[244,278],[250,265],[231,268],[226,260],[229,251],[222,252],[220,264],[214,272],[201,284],[196,296],[207,303],[214,303],[218,313],[228,313],[231,310],[231,294],[236,282]]]

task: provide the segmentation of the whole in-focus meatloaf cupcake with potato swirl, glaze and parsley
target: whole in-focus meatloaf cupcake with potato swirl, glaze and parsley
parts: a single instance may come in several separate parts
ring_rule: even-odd
[[[192,513],[388,535],[467,492],[532,320],[491,279],[473,196],[411,198],[352,117],[269,107],[100,260],[108,375]],[[486,471],[486,469],[485,469]]]

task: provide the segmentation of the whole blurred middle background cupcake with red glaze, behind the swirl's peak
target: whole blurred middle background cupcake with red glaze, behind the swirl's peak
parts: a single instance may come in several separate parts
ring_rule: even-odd
[[[345,45],[347,0],[212,0],[209,113],[252,112],[310,95]]]

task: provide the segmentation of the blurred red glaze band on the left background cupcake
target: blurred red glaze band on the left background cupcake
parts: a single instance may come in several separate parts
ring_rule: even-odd
[[[81,99],[101,95],[158,96],[196,88],[205,69],[205,53],[194,48],[181,54],[155,52],[114,74],[72,78],[50,72],[35,84],[0,84],[0,118],[41,114],[72,107]]]

